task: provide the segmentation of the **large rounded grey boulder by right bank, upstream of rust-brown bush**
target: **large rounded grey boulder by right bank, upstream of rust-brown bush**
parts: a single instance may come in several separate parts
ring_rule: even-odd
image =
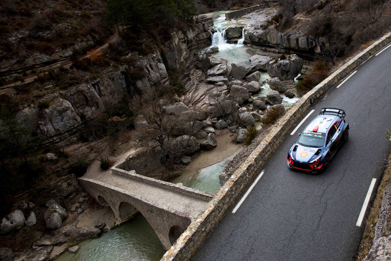
[[[294,79],[303,68],[303,59],[296,54],[287,56],[287,59],[270,61],[267,64],[267,73],[270,77],[278,77],[280,80]]]

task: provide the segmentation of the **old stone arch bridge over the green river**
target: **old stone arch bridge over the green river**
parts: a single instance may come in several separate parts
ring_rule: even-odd
[[[111,168],[105,182],[84,177],[79,181],[100,205],[111,207],[121,222],[140,211],[168,250],[206,209],[212,195],[120,169],[121,164]]]

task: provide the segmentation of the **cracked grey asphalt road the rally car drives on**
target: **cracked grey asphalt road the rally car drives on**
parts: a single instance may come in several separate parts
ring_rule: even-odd
[[[376,191],[384,170],[379,161],[390,148],[385,131],[391,129],[391,47],[337,85],[312,104],[303,118],[315,112],[291,136],[292,127],[237,212],[232,210],[249,186],[192,260],[330,261],[355,256],[364,229],[364,222],[361,227],[356,222],[372,178],[377,178]],[[345,110],[348,142],[320,175],[288,169],[288,149],[323,107]]]

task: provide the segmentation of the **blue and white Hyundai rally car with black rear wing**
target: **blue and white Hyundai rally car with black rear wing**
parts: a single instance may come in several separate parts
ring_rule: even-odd
[[[326,169],[337,150],[348,140],[349,124],[344,117],[345,112],[341,109],[322,108],[289,149],[288,167],[312,173]]]

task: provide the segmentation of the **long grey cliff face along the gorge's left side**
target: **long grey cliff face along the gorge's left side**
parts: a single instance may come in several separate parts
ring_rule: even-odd
[[[210,32],[201,24],[185,33],[173,32],[161,52],[143,56],[136,65],[122,66],[88,84],[47,94],[39,101],[50,101],[49,108],[39,109],[36,101],[20,110],[16,117],[27,119],[25,126],[40,134],[45,144],[71,144],[78,139],[78,130],[108,106],[131,97],[135,90],[169,84],[167,70],[192,65],[194,51],[208,44]],[[143,70],[144,77],[132,78],[135,66]]]

